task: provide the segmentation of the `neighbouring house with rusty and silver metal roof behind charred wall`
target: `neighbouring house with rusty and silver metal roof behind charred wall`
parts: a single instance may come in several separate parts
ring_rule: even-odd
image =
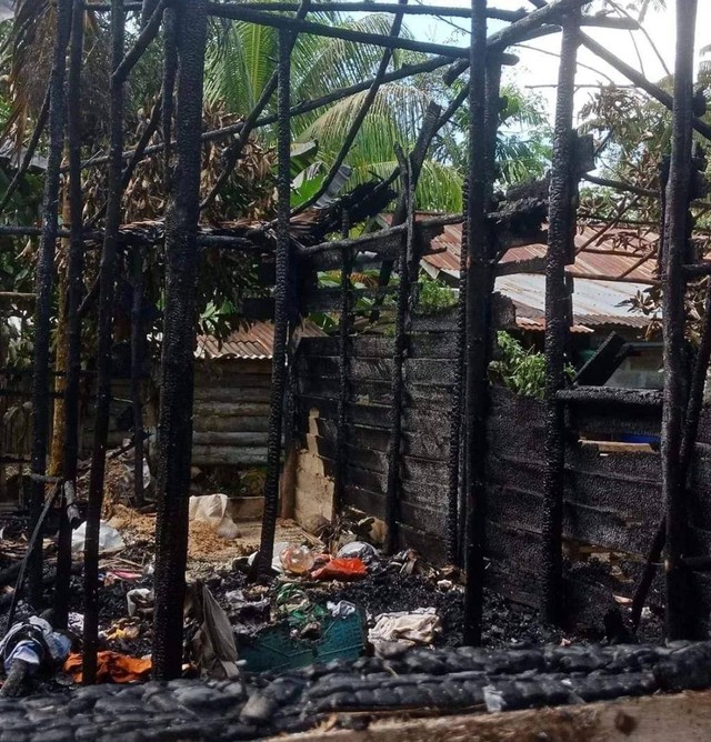
[[[448,225],[432,241],[440,252],[427,255],[421,265],[432,278],[450,285],[459,282],[461,224]],[[568,268],[572,280],[572,350],[578,364],[614,331],[632,350],[608,384],[659,389],[662,345],[645,333],[653,318],[635,311],[630,300],[655,283],[657,235],[645,230],[581,227],[575,235],[578,254]],[[542,348],[545,330],[545,244],[513,248],[502,259],[503,269],[527,261],[531,273],[499,275],[495,289],[513,302],[515,322],[527,340]],[[508,267],[508,268],[507,268]]]

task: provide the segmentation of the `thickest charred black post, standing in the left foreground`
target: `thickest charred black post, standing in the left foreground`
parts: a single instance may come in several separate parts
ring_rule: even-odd
[[[166,231],[153,616],[153,673],[160,680],[179,678],[182,668],[207,3],[182,0],[174,13],[177,161]]]

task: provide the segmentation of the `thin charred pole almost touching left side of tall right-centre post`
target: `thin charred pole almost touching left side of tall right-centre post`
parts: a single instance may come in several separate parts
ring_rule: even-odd
[[[470,11],[471,12],[471,11]],[[459,254],[459,297],[457,298],[457,341],[454,350],[454,381],[452,384],[452,404],[449,422],[449,459],[447,470],[447,561],[460,564],[462,558],[462,539],[464,530],[462,521],[465,517],[465,503],[462,502],[462,433],[464,411],[464,379],[467,378],[467,259],[469,257],[467,234],[467,202],[469,200],[467,183],[463,187],[463,223],[462,240]]]

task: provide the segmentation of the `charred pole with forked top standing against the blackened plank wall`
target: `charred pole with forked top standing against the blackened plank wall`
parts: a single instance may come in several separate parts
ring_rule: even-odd
[[[414,182],[412,158],[405,159],[398,148],[398,162],[402,178],[402,193],[405,207],[407,230],[402,237],[400,255],[398,259],[398,305],[395,310],[395,337],[392,353],[392,379],[388,439],[388,480],[385,489],[385,554],[392,554],[398,540],[398,519],[400,504],[400,448],[402,445],[402,405],[404,397],[404,359],[408,347],[407,319],[410,302],[410,262],[414,249]]]

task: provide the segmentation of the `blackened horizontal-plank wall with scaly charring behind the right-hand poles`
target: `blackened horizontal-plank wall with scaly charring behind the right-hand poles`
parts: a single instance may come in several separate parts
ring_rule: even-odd
[[[444,563],[454,323],[447,317],[414,320],[407,349],[398,547]],[[384,520],[393,339],[351,337],[349,350],[342,509]],[[300,343],[296,359],[300,451],[294,500],[297,518],[306,525],[314,518],[339,514],[332,513],[339,353],[338,338],[309,338]],[[632,598],[663,513],[659,452],[653,445],[619,443],[632,435],[659,437],[662,401],[659,392],[604,387],[585,391],[587,400],[563,402],[563,553],[567,621],[592,624],[614,606],[614,596],[625,602]],[[542,401],[494,387],[487,423],[485,583],[535,608],[544,590],[543,411]],[[688,498],[692,555],[711,549],[711,495],[704,485],[710,477],[711,411],[704,408]],[[700,573],[694,582],[701,603],[697,631],[705,633],[711,582]]]

